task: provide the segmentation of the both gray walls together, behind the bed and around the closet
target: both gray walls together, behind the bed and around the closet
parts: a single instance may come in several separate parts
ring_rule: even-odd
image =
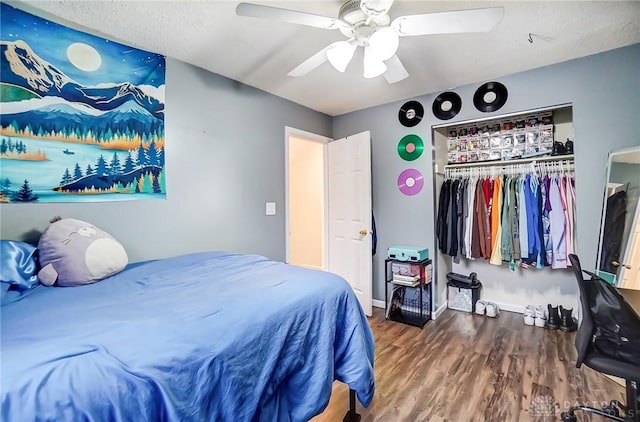
[[[463,100],[462,111],[446,122],[573,103],[578,252],[587,268],[595,266],[607,153],[640,144],[639,67],[640,45],[635,45],[496,77],[494,80],[509,89],[507,104],[496,113],[480,113],[473,107],[473,93],[483,82],[479,81],[455,88]],[[88,220],[107,230],[124,244],[131,261],[208,249],[259,253],[284,260],[284,127],[334,138],[370,130],[379,242],[374,258],[374,298],[382,300],[383,261],[389,246],[424,245],[432,254],[436,250],[431,126],[445,123],[430,111],[437,94],[415,98],[426,110],[424,120],[414,128],[398,122],[398,109],[404,101],[332,119],[168,60],[167,199],[0,205],[0,236],[31,239],[47,227],[52,216],[61,215]],[[405,162],[397,154],[398,141],[409,133],[422,137],[426,147],[414,162]],[[402,195],[396,185],[398,174],[408,167],[418,168],[425,178],[425,189],[414,197]],[[277,203],[276,216],[264,215],[266,201]],[[483,295],[488,299],[502,297],[523,305],[575,298],[575,282],[568,272],[541,278],[534,272],[514,275],[484,263],[458,272],[470,270],[483,281]],[[440,289],[440,303],[443,295],[444,289]]]

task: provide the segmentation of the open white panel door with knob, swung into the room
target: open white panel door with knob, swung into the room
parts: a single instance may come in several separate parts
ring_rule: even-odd
[[[371,140],[369,132],[328,144],[329,271],[346,279],[371,316]]]

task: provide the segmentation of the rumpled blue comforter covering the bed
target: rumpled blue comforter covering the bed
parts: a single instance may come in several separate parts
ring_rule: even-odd
[[[40,286],[1,312],[3,421],[306,421],[334,379],[365,406],[373,396],[373,338],[350,286],[256,255]]]

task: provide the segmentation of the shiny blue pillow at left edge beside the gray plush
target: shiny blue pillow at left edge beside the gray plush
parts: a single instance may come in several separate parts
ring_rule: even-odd
[[[18,290],[28,290],[38,284],[37,249],[17,240],[1,240],[0,276]]]

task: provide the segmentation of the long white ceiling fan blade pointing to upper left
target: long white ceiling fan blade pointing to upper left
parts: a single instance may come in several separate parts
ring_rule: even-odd
[[[297,12],[295,10],[281,9],[279,7],[262,6],[252,3],[240,3],[236,7],[236,15],[253,18],[274,19],[281,22],[295,23],[298,25],[313,26],[322,29],[349,28],[349,25],[340,19],[327,16],[313,15],[311,13]]]

